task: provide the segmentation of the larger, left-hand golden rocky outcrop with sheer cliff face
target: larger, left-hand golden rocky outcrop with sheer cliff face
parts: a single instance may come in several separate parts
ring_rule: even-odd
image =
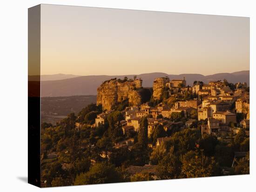
[[[142,80],[124,81],[111,79],[105,81],[97,89],[97,105],[102,105],[103,109],[111,110],[113,106],[124,100],[128,100],[130,105],[139,105],[141,96],[138,89],[141,88]]]

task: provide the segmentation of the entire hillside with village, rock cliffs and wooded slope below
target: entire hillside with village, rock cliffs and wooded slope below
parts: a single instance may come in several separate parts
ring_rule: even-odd
[[[41,133],[43,186],[249,174],[249,87],[114,78]]]

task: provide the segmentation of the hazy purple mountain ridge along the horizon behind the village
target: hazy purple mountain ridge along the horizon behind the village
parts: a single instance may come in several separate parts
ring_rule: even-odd
[[[60,74],[58,74],[60,75]],[[121,75],[121,76],[79,76],[72,77],[73,75],[64,75],[60,77],[70,77],[59,80],[50,80],[41,82],[41,95],[42,96],[75,96],[75,95],[96,95],[97,88],[102,82],[111,78],[121,78],[124,77],[133,78],[135,75]],[[166,73],[155,72],[155,73],[145,73],[136,75],[137,78],[143,80],[143,87],[152,87],[153,81],[156,77],[169,77],[172,79],[183,79],[186,78],[187,85],[193,85],[194,81],[202,81],[204,83],[209,83],[209,81],[223,80],[224,78],[231,83],[246,82],[249,85],[249,70],[238,71],[234,73],[217,73],[214,75],[204,76],[201,74],[180,74],[180,75],[168,75]],[[55,79],[56,77],[51,77]],[[32,80],[32,78],[29,78]],[[42,79],[42,78],[41,78]]]

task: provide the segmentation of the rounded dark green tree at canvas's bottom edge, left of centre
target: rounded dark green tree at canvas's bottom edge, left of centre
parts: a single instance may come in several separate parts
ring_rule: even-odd
[[[76,176],[74,185],[88,185],[121,182],[121,175],[115,166],[107,162],[96,163],[87,173]]]

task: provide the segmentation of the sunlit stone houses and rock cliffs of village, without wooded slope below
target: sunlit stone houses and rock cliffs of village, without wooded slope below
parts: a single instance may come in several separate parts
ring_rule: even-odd
[[[138,132],[141,117],[148,117],[148,136],[159,124],[168,131],[173,126],[193,128],[200,121],[205,122],[201,126],[202,136],[221,136],[230,132],[231,128],[234,132],[239,127],[249,129],[249,88],[246,83],[236,83],[230,88],[226,80],[209,84],[195,81],[189,87],[186,86],[185,78],[171,81],[168,77],[156,78],[153,84],[153,100],[159,103],[155,106],[150,102],[141,103],[137,90],[141,88],[142,80],[118,83],[114,79],[105,83],[98,89],[97,96],[97,105],[101,104],[105,112],[97,115],[95,127],[104,125],[116,103],[128,99],[131,106],[121,111],[124,116],[121,121],[124,134],[129,131]],[[239,127],[235,127],[237,122]]]

